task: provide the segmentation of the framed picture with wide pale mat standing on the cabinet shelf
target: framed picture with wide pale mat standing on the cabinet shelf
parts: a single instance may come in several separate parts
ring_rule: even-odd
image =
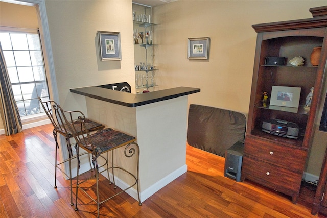
[[[300,87],[272,86],[270,105],[298,108]]]

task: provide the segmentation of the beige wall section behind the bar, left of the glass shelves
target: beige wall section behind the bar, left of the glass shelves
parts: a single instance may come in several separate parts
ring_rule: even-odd
[[[131,0],[45,0],[60,104],[86,112],[70,88],[128,82],[135,87]],[[100,61],[97,31],[121,33],[121,61]],[[132,91],[135,91],[132,89]]]

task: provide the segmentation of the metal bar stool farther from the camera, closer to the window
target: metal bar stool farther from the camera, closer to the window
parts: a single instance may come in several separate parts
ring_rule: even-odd
[[[41,98],[38,96],[38,100],[41,103],[44,112],[50,119],[54,129],[53,129],[53,136],[56,142],[56,155],[55,155],[55,188],[57,188],[57,168],[66,176],[69,178],[69,186],[71,190],[71,205],[74,205],[73,203],[73,191],[72,191],[72,160],[77,158],[76,155],[73,155],[73,150],[71,146],[71,138],[73,138],[73,135],[69,128],[67,127],[64,118],[61,116],[61,112],[59,110],[59,105],[54,102],[54,101],[42,101]],[[97,131],[99,129],[103,129],[105,126],[102,124],[99,124],[97,122],[94,122],[92,120],[86,119],[85,120],[85,126],[84,128],[87,129],[88,131]],[[81,131],[82,129],[77,129],[77,134],[82,134],[84,130]],[[67,150],[68,150],[68,159],[65,159],[61,162],[58,163],[57,161],[57,154],[58,154],[58,149],[59,149],[59,144],[58,144],[58,133],[63,135],[66,139],[66,144],[67,144]],[[84,153],[84,154],[89,154],[89,153]],[[82,155],[84,155],[82,154]],[[89,158],[88,158],[89,159]],[[63,169],[61,169],[59,166],[68,162],[69,163],[69,174],[64,172]]]

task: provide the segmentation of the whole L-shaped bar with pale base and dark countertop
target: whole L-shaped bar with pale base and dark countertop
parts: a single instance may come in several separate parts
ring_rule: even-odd
[[[94,86],[71,92],[85,96],[88,118],[137,138],[141,202],[187,171],[188,95],[200,92],[199,88],[132,94]],[[135,167],[133,163],[122,164],[135,170],[129,168]],[[115,176],[122,189],[130,183],[124,175]],[[136,187],[127,193],[137,199]]]

